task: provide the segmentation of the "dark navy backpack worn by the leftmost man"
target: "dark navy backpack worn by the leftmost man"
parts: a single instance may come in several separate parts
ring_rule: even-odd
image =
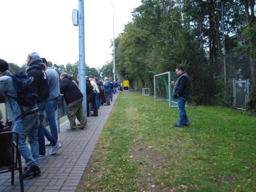
[[[32,80],[24,75],[23,72],[15,73],[11,77],[15,89],[17,90],[17,97],[15,100],[19,104],[20,110],[24,115],[22,106],[29,107],[35,105],[38,101],[38,95],[32,88]]]

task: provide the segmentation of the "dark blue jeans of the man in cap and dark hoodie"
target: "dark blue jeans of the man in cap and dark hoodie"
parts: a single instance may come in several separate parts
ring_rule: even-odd
[[[46,102],[37,103],[39,110],[39,127],[38,127],[38,144],[39,144],[39,154],[45,155],[45,139],[44,132],[47,132],[47,139],[51,143],[51,145],[56,145],[57,140],[52,137],[52,134],[48,131],[48,129],[43,125],[44,119],[44,110],[46,107]]]

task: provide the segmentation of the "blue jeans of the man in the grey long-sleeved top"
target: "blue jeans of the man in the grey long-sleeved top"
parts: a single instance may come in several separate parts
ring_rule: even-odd
[[[47,116],[47,120],[49,123],[49,127],[50,127],[50,131],[51,131],[51,135],[49,135],[49,131],[48,129],[46,129],[47,131],[44,131],[44,135],[45,137],[50,141],[52,137],[54,137],[54,139],[56,141],[58,141],[58,131],[57,131],[57,125],[56,125],[56,121],[55,121],[55,111],[58,108],[58,101],[47,101],[46,102],[46,108],[45,108],[45,113]],[[52,137],[51,137],[52,136]],[[56,143],[52,143],[52,145],[54,146]]]

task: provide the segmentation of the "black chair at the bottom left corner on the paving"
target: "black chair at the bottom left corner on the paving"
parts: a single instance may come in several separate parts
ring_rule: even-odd
[[[14,185],[14,171],[20,174],[20,191],[24,192],[19,135],[15,131],[0,130],[0,174],[12,172],[12,185]]]

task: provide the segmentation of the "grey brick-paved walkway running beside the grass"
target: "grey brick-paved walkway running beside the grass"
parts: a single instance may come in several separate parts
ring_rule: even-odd
[[[66,125],[62,127],[59,134],[61,148],[58,150],[58,154],[48,155],[45,159],[40,160],[41,176],[24,180],[25,191],[74,192],[76,190],[116,97],[117,94],[113,94],[111,105],[100,107],[98,117],[87,118],[87,130],[65,131],[65,128],[69,127],[69,123],[66,121]],[[49,149],[47,153],[49,153]],[[0,175],[0,192],[19,191],[18,171],[15,172],[13,186],[11,174]]]

